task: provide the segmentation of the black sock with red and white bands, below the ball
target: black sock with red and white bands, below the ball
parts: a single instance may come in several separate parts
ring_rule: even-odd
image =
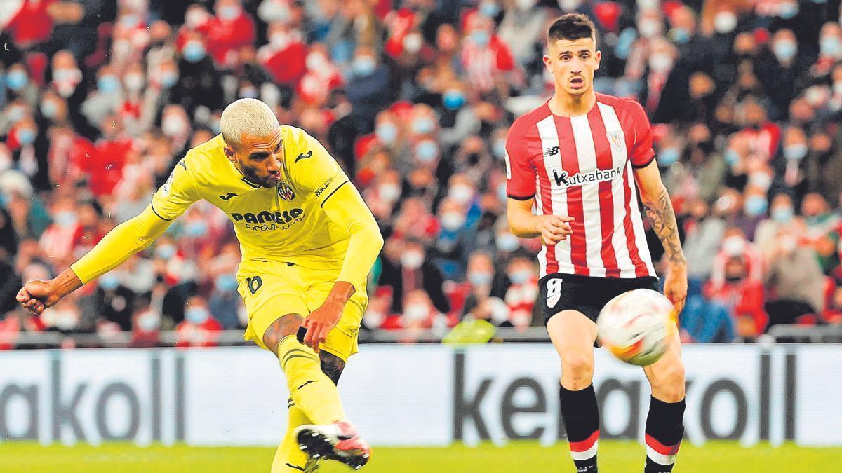
[[[646,417],[646,468],[644,473],[669,473],[673,470],[675,456],[679,453],[684,437],[685,401],[649,402]]]

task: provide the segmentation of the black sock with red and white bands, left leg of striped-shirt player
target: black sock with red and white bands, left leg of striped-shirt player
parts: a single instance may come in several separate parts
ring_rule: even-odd
[[[578,473],[596,473],[596,446],[600,438],[600,412],[596,407],[594,385],[581,391],[570,391],[562,386],[564,428],[568,431],[570,454]]]

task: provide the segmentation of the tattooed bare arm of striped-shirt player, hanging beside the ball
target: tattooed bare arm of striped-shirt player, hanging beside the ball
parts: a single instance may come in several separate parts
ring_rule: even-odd
[[[687,297],[687,261],[681,250],[675,211],[667,189],[663,187],[658,164],[653,160],[646,167],[636,168],[635,180],[640,189],[643,210],[661,240],[663,252],[669,261],[663,293],[673,301],[675,308],[680,312]]]

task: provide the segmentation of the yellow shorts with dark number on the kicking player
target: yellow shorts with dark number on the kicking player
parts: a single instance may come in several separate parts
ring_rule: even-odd
[[[322,306],[338,275],[339,271],[334,269],[302,268],[277,261],[243,261],[237,271],[237,291],[248,311],[248,327],[242,337],[269,349],[263,342],[266,329],[280,316],[306,317]],[[319,348],[347,362],[350,355],[357,353],[357,333],[366,306],[368,295],[364,285],[356,288],[336,327],[328,332],[327,340]]]

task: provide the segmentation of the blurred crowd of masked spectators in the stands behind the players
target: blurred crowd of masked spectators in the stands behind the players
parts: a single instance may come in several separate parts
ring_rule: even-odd
[[[139,213],[243,97],[328,146],[380,222],[366,329],[541,325],[540,242],[506,225],[504,142],[552,94],[546,28],[568,12],[599,29],[596,90],[653,122],[688,258],[685,340],[840,323],[839,0],[7,0],[0,332],[147,346],[242,328],[232,226],[202,202],[43,316],[14,295]]]

